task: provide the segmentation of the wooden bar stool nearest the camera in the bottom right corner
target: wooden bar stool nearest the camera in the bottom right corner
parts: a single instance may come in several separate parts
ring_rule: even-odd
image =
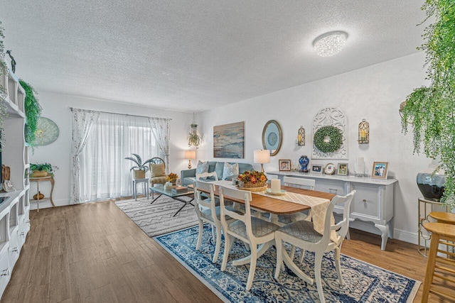
[[[430,292],[446,299],[455,300],[455,292],[448,292],[449,289],[453,288],[447,287],[444,289],[434,284],[434,277],[455,284],[455,260],[453,259],[455,258],[455,253],[449,250],[439,250],[440,243],[452,248],[455,247],[455,225],[427,222],[424,224],[424,228],[432,233],[432,240],[429,245],[427,272],[425,273],[421,302],[428,302]],[[442,257],[438,253],[446,255],[446,257]],[[437,272],[434,271],[435,268]],[[443,273],[446,273],[446,275],[443,275]]]

